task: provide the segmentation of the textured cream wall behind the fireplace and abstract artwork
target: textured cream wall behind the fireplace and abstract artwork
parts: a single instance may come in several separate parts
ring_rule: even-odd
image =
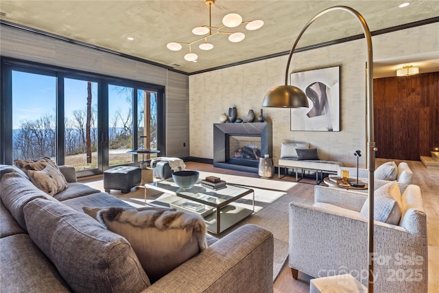
[[[438,51],[439,24],[414,27],[372,37],[374,62],[423,52]],[[306,33],[302,38],[306,38]],[[407,46],[407,40],[412,45]],[[300,45],[300,44],[299,44]],[[283,141],[307,141],[318,148],[320,159],[355,165],[355,150],[366,154],[366,40],[294,54],[290,72],[340,65],[341,131],[299,132],[289,130],[290,111],[263,108],[273,124],[273,156],[275,165]],[[265,93],[285,82],[287,56],[245,65],[219,69],[189,77],[190,155],[213,158],[213,126],[219,115],[236,106],[239,117],[253,109],[259,115]],[[366,165],[362,156],[360,165]]]

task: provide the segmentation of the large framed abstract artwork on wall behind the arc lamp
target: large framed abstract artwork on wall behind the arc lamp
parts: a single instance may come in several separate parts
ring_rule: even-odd
[[[309,108],[292,108],[291,131],[340,131],[340,66],[291,73]]]

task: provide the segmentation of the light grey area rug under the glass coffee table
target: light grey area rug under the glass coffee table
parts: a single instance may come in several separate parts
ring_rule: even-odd
[[[230,178],[228,180],[230,182]],[[239,180],[242,180],[240,177]],[[235,183],[235,182],[233,182]],[[241,182],[242,183],[242,182]],[[247,182],[248,183],[248,182]],[[254,185],[259,185],[258,180],[254,180]],[[265,180],[265,184],[267,181]],[[272,232],[274,235],[274,262],[273,262],[273,281],[281,272],[282,267],[288,256],[288,204],[292,201],[292,196],[283,191],[268,190],[262,188],[249,187],[254,190],[254,211],[250,217],[242,222],[235,224],[227,231],[215,237],[222,238],[231,231],[244,224],[255,224]],[[140,192],[139,192],[140,191]],[[147,203],[167,207],[169,202],[175,200],[175,196],[162,194],[152,189],[140,189],[137,192],[117,196],[119,199],[132,204],[133,206],[144,206],[143,193],[147,193]],[[251,209],[251,196],[245,196],[236,202],[237,205]]]

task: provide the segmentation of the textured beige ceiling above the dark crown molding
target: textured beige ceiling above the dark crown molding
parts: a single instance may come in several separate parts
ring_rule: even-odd
[[[241,43],[230,43],[226,34],[209,38],[211,51],[198,49],[198,62],[188,62],[183,56],[189,46],[169,51],[169,42],[190,43],[199,37],[191,33],[194,27],[209,25],[209,8],[204,0],[191,1],[0,1],[1,19],[11,23],[71,38],[122,54],[193,73],[278,54],[291,49],[302,27],[318,12],[334,5],[348,5],[366,19],[371,32],[423,21],[439,16],[439,0],[412,0],[406,8],[401,1],[228,1],[216,0],[212,7],[212,25],[221,25],[222,17],[230,12],[241,14],[244,21],[261,19],[263,27],[247,31],[240,25],[228,32],[244,32]],[[315,45],[347,36],[362,34],[361,25],[344,11],[326,14],[314,22],[300,39],[298,47]],[[127,37],[134,40],[127,40]],[[389,67],[403,62],[429,60],[438,71],[439,57],[405,56],[406,60],[379,60],[375,71],[381,76]],[[378,67],[377,67],[378,66]],[[425,72],[425,71],[421,71]],[[392,69],[394,75],[394,69]],[[389,75],[390,76],[390,75]]]

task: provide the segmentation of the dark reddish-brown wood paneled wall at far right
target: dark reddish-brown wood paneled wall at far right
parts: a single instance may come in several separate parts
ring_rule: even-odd
[[[377,158],[420,161],[439,148],[439,72],[379,78],[373,92]]]

